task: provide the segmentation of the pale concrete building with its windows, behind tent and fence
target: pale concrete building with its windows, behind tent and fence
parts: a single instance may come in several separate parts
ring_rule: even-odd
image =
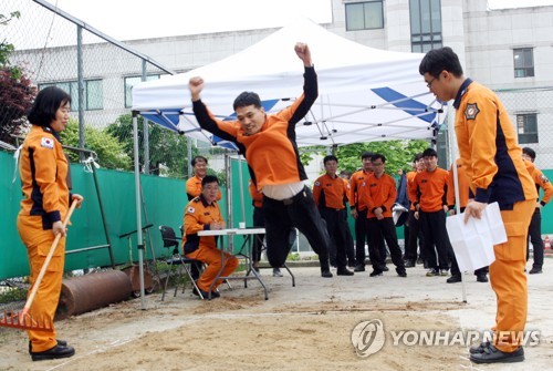
[[[331,6],[332,22],[323,25],[358,43],[403,52],[451,47],[467,76],[498,91],[520,143],[536,150],[538,165],[553,168],[552,6],[490,10],[482,0],[332,0]],[[274,31],[175,35],[125,44],[167,71],[185,72],[231,55]],[[75,50],[19,50],[12,60],[27,63],[39,86],[62,84],[76,94]],[[107,42],[84,44],[82,59],[85,122],[107,125],[128,113],[129,89],[142,79],[142,60]],[[147,79],[164,73],[146,63]]]

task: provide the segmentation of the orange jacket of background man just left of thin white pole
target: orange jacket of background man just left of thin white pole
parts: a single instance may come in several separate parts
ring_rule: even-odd
[[[409,188],[409,198],[419,205],[420,210],[434,213],[447,205],[447,185],[449,173],[436,167],[434,172],[424,171],[415,175],[415,186]]]

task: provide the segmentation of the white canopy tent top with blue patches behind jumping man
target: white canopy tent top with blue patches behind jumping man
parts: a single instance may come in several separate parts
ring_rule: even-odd
[[[217,143],[194,117],[189,79],[204,78],[202,101],[221,118],[232,116],[232,102],[243,91],[257,92],[265,111],[279,111],[302,93],[303,65],[293,50],[298,41],[310,45],[319,75],[319,99],[296,126],[299,146],[435,137],[445,114],[418,73],[424,54],[364,47],[309,19],[298,19],[218,62],[137,84],[133,110],[187,136]]]

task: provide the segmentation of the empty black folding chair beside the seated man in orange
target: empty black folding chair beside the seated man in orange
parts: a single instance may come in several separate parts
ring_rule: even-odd
[[[201,296],[201,291],[198,289],[198,286],[196,286],[196,281],[194,280],[192,275],[190,274],[190,265],[197,264],[199,267],[201,267],[202,266],[201,261],[187,258],[186,256],[180,254],[178,249],[180,244],[180,238],[178,238],[175,235],[175,230],[171,227],[159,226],[159,231],[161,233],[164,247],[167,248],[173,247],[171,256],[165,260],[169,266],[169,271],[167,272],[167,277],[165,278],[164,293],[161,295],[161,301],[164,301],[165,299],[165,291],[167,289],[167,284],[169,282],[169,279],[174,272],[177,274],[177,284],[175,285],[174,297],[177,296],[179,281],[182,278],[182,269],[185,269],[187,277],[190,279],[190,282],[192,282],[192,286],[199,293],[200,298],[204,299],[204,297]],[[182,293],[185,292],[185,286],[186,286],[185,282],[182,282]]]

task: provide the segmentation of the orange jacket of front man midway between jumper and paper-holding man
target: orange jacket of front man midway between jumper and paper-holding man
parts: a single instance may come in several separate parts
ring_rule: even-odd
[[[396,181],[388,174],[383,174],[377,178],[371,174],[366,181],[368,184],[367,193],[367,218],[375,218],[374,209],[380,207],[385,218],[392,217],[392,206],[397,197]]]

